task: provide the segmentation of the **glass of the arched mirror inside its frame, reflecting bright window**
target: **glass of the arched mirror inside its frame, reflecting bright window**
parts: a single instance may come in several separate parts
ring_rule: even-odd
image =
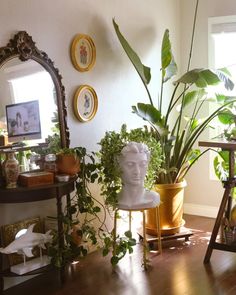
[[[6,105],[36,100],[39,103],[41,138],[31,140],[30,145],[45,142],[49,135],[59,132],[59,129],[57,130],[56,128],[58,125],[58,112],[55,86],[49,73],[39,63],[33,60],[22,62],[18,58],[11,59],[1,68],[0,85],[0,124],[2,128],[6,129],[7,127]],[[20,107],[22,109],[23,105],[20,105]],[[27,121],[25,119],[25,122],[21,122],[23,119],[20,118],[21,121],[18,122],[17,115],[19,113],[15,110],[12,114],[12,117],[16,117],[16,120],[8,118],[8,127],[13,125],[13,123],[16,123],[15,125],[18,127],[14,129],[13,133],[9,133],[10,128],[8,128],[8,134],[12,135],[11,137],[9,136],[9,141],[11,142],[33,138],[30,128],[26,129],[28,116]],[[22,128],[23,126],[24,128]]]

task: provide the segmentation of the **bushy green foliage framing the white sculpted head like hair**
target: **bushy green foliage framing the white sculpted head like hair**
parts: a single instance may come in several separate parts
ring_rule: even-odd
[[[161,165],[162,156],[160,144],[155,138],[153,130],[147,127],[136,128],[130,131],[126,125],[122,125],[120,132],[106,132],[101,139],[101,146],[98,153],[100,159],[98,182],[101,184],[101,192],[105,198],[105,204],[116,207],[117,194],[121,190],[121,172],[118,164],[118,156],[122,148],[130,141],[142,142],[146,144],[151,152],[150,163],[148,166],[145,187],[150,189],[156,180],[156,173]]]

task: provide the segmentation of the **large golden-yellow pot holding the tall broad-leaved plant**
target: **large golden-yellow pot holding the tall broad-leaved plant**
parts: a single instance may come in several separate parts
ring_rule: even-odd
[[[174,184],[158,184],[155,190],[160,194],[161,235],[172,235],[180,231],[184,224],[183,203],[186,181]],[[157,234],[156,209],[147,210],[146,230],[150,235]]]

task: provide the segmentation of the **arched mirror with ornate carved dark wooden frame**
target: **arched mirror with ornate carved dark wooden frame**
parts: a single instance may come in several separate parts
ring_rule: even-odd
[[[6,125],[9,138],[25,133],[31,146],[58,134],[60,147],[69,147],[62,77],[25,31],[0,47],[0,135]]]

